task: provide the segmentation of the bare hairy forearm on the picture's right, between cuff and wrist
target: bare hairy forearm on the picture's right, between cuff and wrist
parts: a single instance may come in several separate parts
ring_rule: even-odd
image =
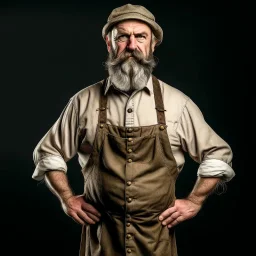
[[[206,198],[214,191],[219,181],[220,178],[215,177],[198,177],[187,199],[193,203],[202,205]]]

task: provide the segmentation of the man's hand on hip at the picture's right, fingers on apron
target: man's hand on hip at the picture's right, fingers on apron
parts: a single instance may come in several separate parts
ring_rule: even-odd
[[[173,207],[160,214],[159,220],[164,226],[167,225],[168,228],[171,228],[196,216],[201,207],[201,204],[194,203],[189,199],[177,199]]]

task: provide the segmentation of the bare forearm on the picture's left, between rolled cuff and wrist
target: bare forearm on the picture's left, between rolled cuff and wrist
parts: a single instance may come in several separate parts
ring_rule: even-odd
[[[74,195],[70,188],[67,175],[62,171],[48,171],[45,174],[45,182],[61,202],[66,201]]]

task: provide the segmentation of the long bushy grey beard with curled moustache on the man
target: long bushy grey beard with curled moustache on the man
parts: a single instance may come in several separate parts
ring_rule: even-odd
[[[152,52],[147,58],[138,50],[124,50],[119,56],[116,55],[111,50],[105,63],[115,87],[125,92],[144,88],[156,66]]]

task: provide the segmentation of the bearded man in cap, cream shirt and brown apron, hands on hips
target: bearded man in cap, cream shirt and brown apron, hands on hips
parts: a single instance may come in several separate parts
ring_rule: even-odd
[[[32,177],[44,179],[83,226],[80,256],[176,256],[173,227],[234,177],[232,151],[188,96],[152,75],[163,31],[150,11],[118,7],[102,35],[109,77],[70,99],[34,150]],[[184,152],[199,163],[198,179],[176,199]],[[76,154],[83,195],[74,195],[66,176]]]

